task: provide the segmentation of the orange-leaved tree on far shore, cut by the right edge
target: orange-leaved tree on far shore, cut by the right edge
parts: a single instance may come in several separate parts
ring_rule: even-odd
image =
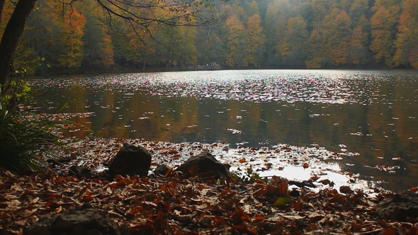
[[[398,28],[395,64],[418,68],[418,0],[404,2]]]

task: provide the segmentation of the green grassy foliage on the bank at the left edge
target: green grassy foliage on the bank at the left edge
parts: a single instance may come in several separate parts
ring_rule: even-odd
[[[52,125],[42,119],[28,119],[21,104],[29,101],[30,87],[24,81],[11,81],[0,88],[0,166],[11,171],[40,170],[38,153],[59,144],[50,133]]]

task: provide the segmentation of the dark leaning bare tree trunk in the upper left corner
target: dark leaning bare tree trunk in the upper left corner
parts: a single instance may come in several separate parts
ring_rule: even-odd
[[[0,42],[0,85],[6,83],[11,72],[11,59],[21,38],[26,20],[35,6],[36,0],[19,0],[4,29]]]

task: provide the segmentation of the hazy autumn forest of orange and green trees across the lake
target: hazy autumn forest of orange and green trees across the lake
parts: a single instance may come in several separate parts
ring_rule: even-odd
[[[134,6],[129,10],[149,13]],[[6,2],[1,31],[12,11],[13,2]],[[132,28],[123,18],[109,20],[95,1],[40,0],[13,57],[13,71],[152,71],[197,64],[418,68],[418,0],[230,0],[214,11],[220,20],[200,27]]]

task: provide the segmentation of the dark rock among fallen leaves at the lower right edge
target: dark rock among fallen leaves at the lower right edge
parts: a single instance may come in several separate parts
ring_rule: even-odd
[[[382,219],[405,222],[407,217],[418,218],[418,194],[405,191],[382,200],[376,209]]]

